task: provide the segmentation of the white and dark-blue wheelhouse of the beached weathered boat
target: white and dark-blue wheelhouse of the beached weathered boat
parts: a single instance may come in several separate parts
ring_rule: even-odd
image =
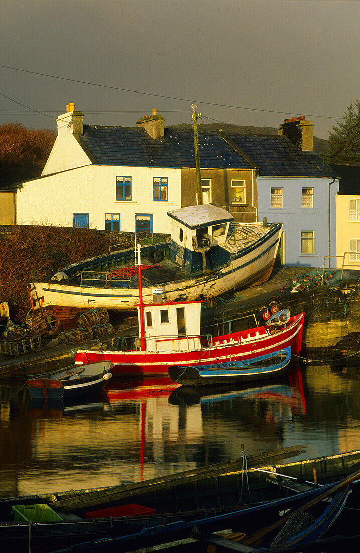
[[[189,273],[207,268],[205,252],[226,242],[234,219],[229,211],[212,204],[182,207],[167,215],[172,220],[170,259]]]

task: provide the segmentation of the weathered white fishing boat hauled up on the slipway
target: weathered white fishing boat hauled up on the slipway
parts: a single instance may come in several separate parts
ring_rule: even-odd
[[[183,207],[168,212],[170,242],[145,246],[142,257],[144,301],[157,288],[164,301],[194,300],[262,283],[272,272],[282,223],[234,223],[232,215],[214,205]],[[135,253],[136,256],[136,253]],[[28,286],[33,309],[52,306],[66,324],[81,310],[135,309],[139,303],[134,250],[87,259]]]

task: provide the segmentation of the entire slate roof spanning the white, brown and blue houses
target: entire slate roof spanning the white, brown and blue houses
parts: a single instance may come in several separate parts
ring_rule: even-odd
[[[286,137],[231,134],[230,138],[250,160],[237,153],[219,132],[199,132],[202,168],[252,169],[256,165],[260,176],[337,177],[318,154],[301,152]],[[194,136],[189,131],[165,129],[163,140],[153,140],[141,127],[84,125],[81,142],[100,165],[195,168]]]

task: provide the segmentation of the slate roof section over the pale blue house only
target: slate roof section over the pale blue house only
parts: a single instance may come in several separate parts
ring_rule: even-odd
[[[336,177],[330,165],[313,152],[302,152],[284,136],[249,137],[231,134],[230,138],[258,166],[260,176]]]

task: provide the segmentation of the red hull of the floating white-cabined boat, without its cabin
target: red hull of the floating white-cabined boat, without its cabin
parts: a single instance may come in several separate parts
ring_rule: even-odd
[[[113,374],[167,374],[171,365],[204,365],[252,359],[286,347],[299,355],[303,336],[304,313],[290,317],[278,330],[269,332],[263,326],[213,338],[213,345],[185,351],[102,351],[81,349],[76,364],[112,361]]]

